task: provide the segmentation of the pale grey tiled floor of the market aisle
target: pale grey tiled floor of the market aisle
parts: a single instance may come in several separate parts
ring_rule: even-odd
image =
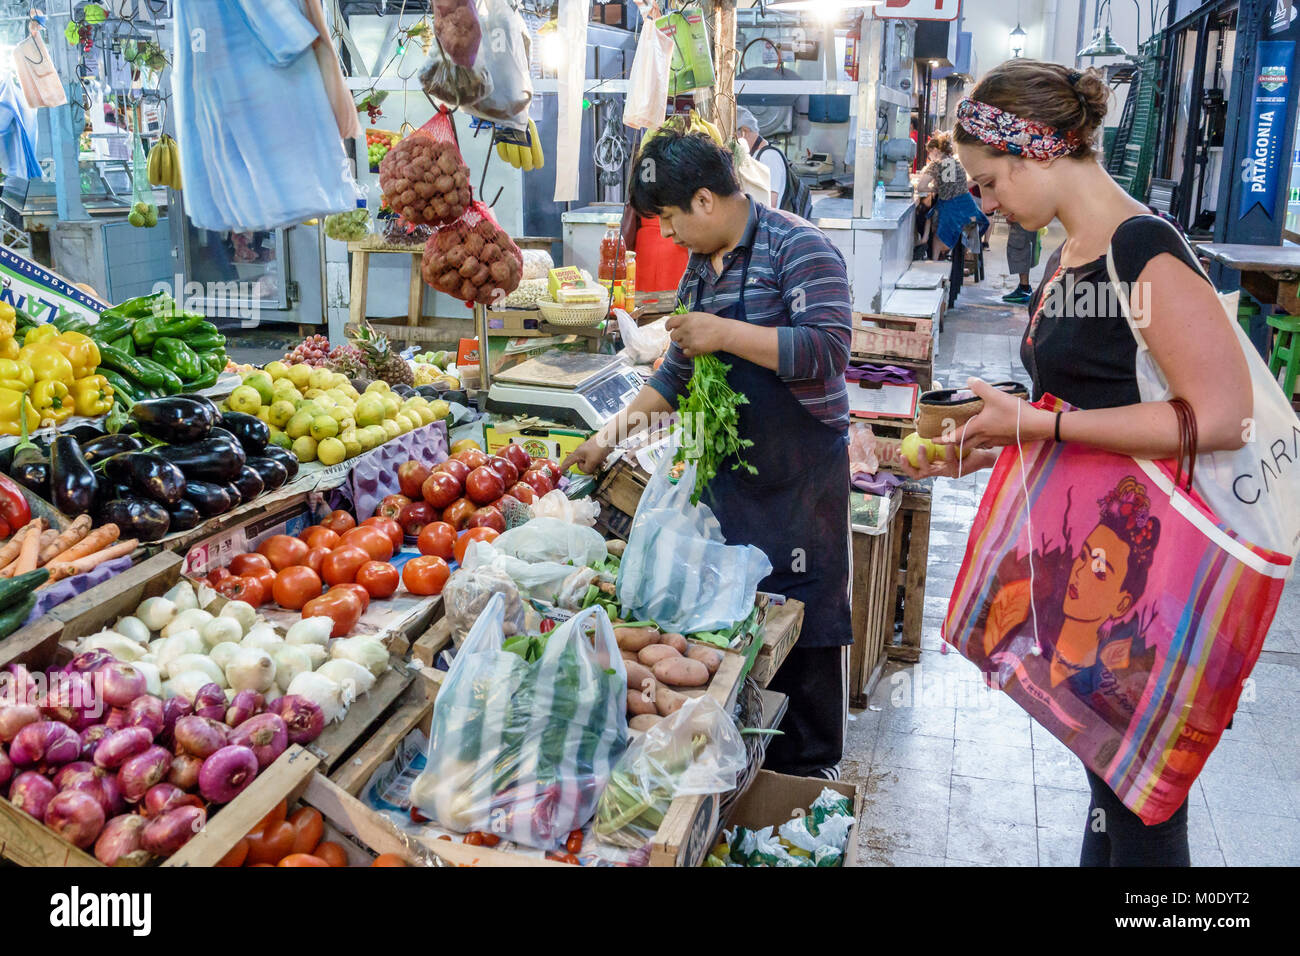
[[[1049,237],[1054,248],[1061,237]],[[935,363],[948,385],[967,376],[1027,381],[1019,360],[1023,306],[998,299],[1005,237],[994,232],[988,277],[948,312]],[[1032,274],[1037,284],[1041,265]],[[859,858],[878,866],[1076,866],[1088,810],[1083,765],[974,665],[942,653],[966,533],[988,472],[936,483],[922,659],[890,663],[870,708],[849,718],[842,775],[866,795]],[[1300,864],[1300,585],[1291,583],[1264,644],[1253,685],[1192,788],[1192,864]]]

